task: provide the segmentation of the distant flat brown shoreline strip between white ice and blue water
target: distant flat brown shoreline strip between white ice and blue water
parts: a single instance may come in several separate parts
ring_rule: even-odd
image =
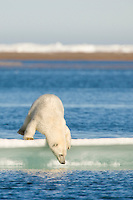
[[[59,60],[59,61],[133,61],[133,53],[16,53],[0,52],[0,61],[4,60]]]

